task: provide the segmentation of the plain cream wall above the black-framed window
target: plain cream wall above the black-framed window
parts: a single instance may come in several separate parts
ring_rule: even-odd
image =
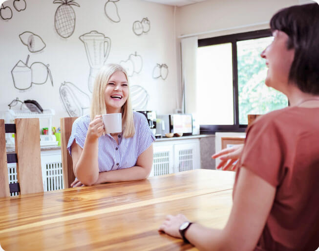
[[[281,8],[309,0],[206,0],[186,5],[177,11],[179,36],[222,30],[199,35],[199,39],[269,28],[271,17]],[[256,23],[265,23],[258,24]],[[247,28],[230,29],[253,25]]]

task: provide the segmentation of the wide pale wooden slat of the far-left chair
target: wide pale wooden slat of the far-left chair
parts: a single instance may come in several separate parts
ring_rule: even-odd
[[[39,118],[16,118],[15,124],[20,194],[43,192]]]

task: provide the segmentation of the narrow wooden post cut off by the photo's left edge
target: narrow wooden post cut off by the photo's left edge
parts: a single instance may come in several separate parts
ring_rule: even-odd
[[[7,150],[5,147],[4,120],[0,119],[0,198],[9,197],[9,178],[7,165]]]

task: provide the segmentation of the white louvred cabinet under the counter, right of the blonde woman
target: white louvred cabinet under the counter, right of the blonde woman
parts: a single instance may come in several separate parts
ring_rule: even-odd
[[[149,176],[200,168],[199,139],[170,139],[153,143],[153,166]]]

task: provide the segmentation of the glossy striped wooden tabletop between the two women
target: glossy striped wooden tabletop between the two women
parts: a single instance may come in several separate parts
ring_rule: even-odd
[[[222,228],[234,172],[197,169],[148,180],[0,199],[5,251],[196,250],[157,231],[167,214]]]

